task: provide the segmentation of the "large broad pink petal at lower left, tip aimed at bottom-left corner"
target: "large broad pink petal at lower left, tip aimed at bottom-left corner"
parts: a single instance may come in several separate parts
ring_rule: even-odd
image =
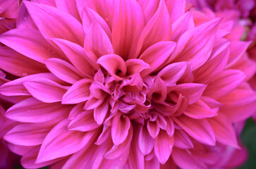
[[[69,131],[67,130],[68,123],[70,123],[70,120],[62,120],[47,134],[40,148],[36,163],[73,154],[83,149],[95,134],[95,131]]]

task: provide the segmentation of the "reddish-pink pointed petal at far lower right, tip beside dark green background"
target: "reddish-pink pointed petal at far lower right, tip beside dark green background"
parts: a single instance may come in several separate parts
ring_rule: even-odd
[[[220,113],[214,118],[209,118],[208,122],[214,130],[215,137],[218,142],[235,148],[239,147],[233,124],[225,115]]]

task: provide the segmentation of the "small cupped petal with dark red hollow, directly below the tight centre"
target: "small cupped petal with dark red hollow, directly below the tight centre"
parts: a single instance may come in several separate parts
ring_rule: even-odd
[[[115,145],[123,143],[128,137],[130,119],[118,113],[114,116],[111,126],[111,137]]]

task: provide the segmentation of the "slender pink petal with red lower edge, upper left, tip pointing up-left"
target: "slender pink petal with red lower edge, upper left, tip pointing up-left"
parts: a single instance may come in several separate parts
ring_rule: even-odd
[[[69,42],[64,39],[52,40],[66,54],[69,61],[71,61],[75,68],[78,68],[78,70],[88,77],[91,77],[94,74],[93,68],[97,68],[97,58],[88,58],[83,47],[78,44],[74,44],[73,42]]]

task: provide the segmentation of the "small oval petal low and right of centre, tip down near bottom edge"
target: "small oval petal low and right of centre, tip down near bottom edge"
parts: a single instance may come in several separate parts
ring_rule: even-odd
[[[161,164],[166,163],[173,149],[174,137],[170,137],[164,130],[161,130],[154,142],[154,154]]]

